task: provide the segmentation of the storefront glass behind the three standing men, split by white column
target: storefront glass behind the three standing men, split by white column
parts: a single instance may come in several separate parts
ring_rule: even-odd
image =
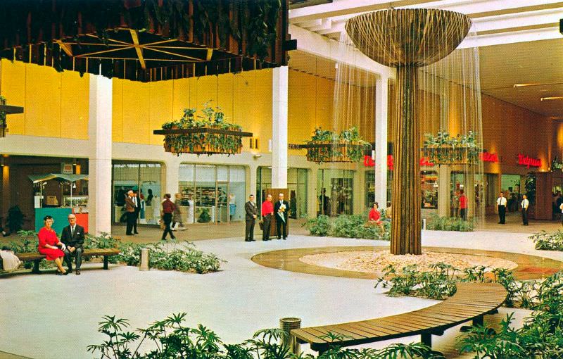
[[[303,168],[287,169],[287,189],[289,190],[289,215],[291,218],[307,217],[307,170]],[[265,201],[267,189],[272,188],[272,169],[266,167],[258,168],[256,184],[258,205]],[[276,199],[274,199],[275,201]]]

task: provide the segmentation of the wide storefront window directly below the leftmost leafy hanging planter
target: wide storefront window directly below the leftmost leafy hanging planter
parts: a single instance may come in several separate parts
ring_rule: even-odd
[[[239,166],[182,164],[179,193],[186,223],[242,220],[246,171]]]

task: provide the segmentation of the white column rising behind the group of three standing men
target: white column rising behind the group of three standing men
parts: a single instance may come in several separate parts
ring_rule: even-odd
[[[272,75],[272,188],[287,188],[287,66]]]

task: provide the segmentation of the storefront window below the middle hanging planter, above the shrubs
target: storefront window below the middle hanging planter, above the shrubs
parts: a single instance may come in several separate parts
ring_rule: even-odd
[[[317,174],[318,213],[351,215],[353,213],[354,172],[350,170],[319,170]]]

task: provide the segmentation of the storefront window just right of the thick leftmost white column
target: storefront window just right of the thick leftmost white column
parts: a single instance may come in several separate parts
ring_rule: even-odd
[[[160,219],[159,163],[113,164],[113,222],[125,222],[125,195],[127,191],[139,191],[141,211],[139,223],[157,225]]]

